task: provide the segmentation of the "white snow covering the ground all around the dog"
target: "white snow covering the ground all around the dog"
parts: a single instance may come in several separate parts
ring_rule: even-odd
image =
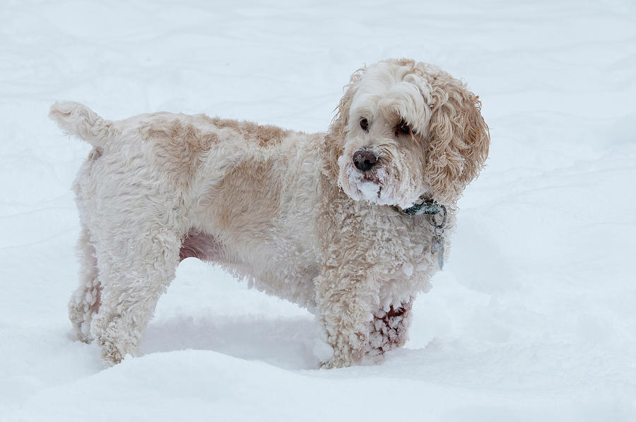
[[[319,369],[312,315],[196,259],[141,356],[73,341],[89,148],[52,102],[324,131],[388,57],[464,78],[492,135],[406,347]],[[0,421],[636,420],[634,1],[3,0],[0,124]]]

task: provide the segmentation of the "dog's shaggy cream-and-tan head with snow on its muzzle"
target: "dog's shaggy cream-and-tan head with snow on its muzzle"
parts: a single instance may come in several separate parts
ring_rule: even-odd
[[[483,166],[481,102],[437,66],[386,60],[359,69],[325,136],[325,170],[352,199],[406,209],[454,205]]]

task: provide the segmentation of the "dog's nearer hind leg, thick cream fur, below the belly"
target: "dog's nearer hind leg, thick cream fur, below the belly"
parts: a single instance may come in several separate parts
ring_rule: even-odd
[[[174,279],[179,263],[179,234],[158,223],[141,223],[139,229],[107,241],[106,245],[100,241],[96,245],[101,306],[90,332],[102,346],[102,358],[111,364],[136,351],[155,305]]]

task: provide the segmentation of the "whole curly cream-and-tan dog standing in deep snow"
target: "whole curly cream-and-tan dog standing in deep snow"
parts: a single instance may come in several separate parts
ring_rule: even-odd
[[[93,145],[73,184],[69,313],[113,364],[187,257],[307,307],[326,368],[377,361],[405,343],[490,141],[464,83],[407,59],[356,71],[326,134],[168,112],[110,121],[76,102],[49,117]]]

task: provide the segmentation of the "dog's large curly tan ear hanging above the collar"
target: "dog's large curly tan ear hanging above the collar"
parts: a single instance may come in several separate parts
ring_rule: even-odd
[[[454,204],[488,157],[481,101],[444,71],[430,76],[432,115],[424,174],[436,201]]]

